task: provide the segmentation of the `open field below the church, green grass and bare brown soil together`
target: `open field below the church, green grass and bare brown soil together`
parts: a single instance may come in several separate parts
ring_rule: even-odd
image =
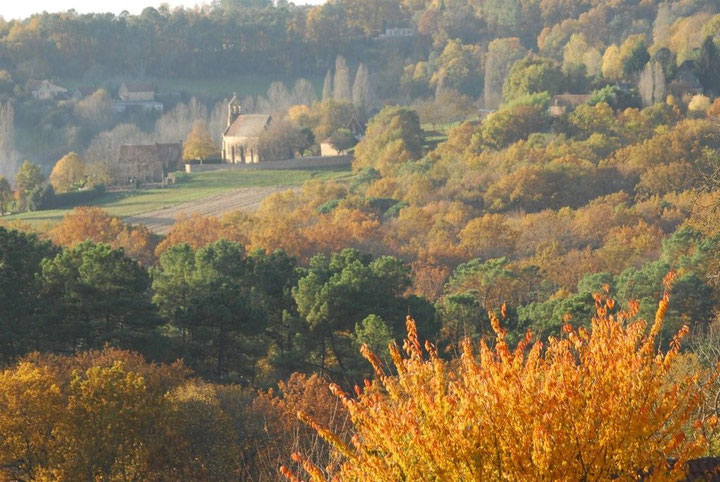
[[[165,233],[183,213],[219,216],[239,209],[252,211],[275,192],[299,189],[312,179],[343,179],[350,175],[347,169],[211,171],[187,175],[178,184],[165,188],[106,192],[89,204],[127,222],[146,224],[157,233]],[[4,220],[52,225],[71,210],[34,211]]]

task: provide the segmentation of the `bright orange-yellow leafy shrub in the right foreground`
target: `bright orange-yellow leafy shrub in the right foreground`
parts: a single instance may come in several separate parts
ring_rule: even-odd
[[[547,344],[528,334],[515,349],[492,316],[494,347],[466,341],[453,362],[423,350],[408,317],[404,355],[391,346],[396,375],[363,347],[376,379],[354,398],[331,386],[354,425],[350,444],[299,413],[345,463],[329,473],[294,460],[313,481],[682,479],[707,447],[698,376],[673,371],[687,328],[658,350],[667,292],[649,330],[636,305],[614,313],[603,295],[596,305],[591,331],[568,324]]]

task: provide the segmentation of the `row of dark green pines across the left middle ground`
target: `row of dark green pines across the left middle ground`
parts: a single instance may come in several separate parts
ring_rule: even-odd
[[[140,248],[148,234],[94,220],[84,236]],[[352,380],[363,373],[357,347],[396,336],[392,321],[403,313],[434,326],[432,305],[405,294],[410,267],[392,257],[346,250],[300,268],[282,251],[246,255],[241,245],[218,241],[174,245],[148,270],[108,244],[59,249],[18,231],[0,234],[5,362],[31,350],[74,353],[109,343],[184,358],[217,379],[268,384],[304,369]],[[68,234],[54,236],[67,241]]]

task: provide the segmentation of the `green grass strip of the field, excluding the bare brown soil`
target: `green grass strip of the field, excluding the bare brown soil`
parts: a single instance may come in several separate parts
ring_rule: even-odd
[[[344,179],[351,175],[351,172],[345,169],[202,172],[191,174],[181,183],[170,185],[164,189],[107,192],[93,201],[92,205],[101,207],[115,216],[135,216],[156,209],[215,196],[232,189],[298,186],[311,179]],[[51,209],[21,213],[7,216],[3,220],[19,220],[31,225],[54,224],[60,222],[62,217],[71,209]]]

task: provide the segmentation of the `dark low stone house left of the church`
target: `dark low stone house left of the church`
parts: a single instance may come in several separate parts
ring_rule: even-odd
[[[120,147],[119,165],[128,181],[161,182],[182,161],[183,145],[124,145]]]

